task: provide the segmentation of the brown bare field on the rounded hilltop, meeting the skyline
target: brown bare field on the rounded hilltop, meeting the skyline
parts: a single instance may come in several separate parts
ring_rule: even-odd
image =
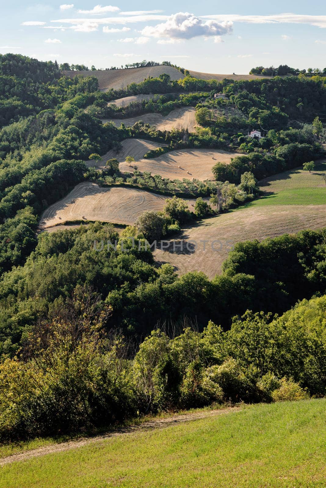
[[[140,83],[149,76],[157,78],[166,73],[171,80],[180,80],[184,75],[172,66],[148,66],[145,68],[129,68],[129,69],[115,69],[115,70],[95,70],[95,71],[63,71],[65,76],[74,78],[76,75],[96,76],[99,80],[99,88],[102,91],[107,91],[110,88],[127,88],[130,83]]]

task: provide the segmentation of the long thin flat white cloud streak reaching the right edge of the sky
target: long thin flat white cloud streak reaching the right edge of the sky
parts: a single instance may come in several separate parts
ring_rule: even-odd
[[[326,28],[326,15],[299,15],[299,14],[276,14],[276,15],[235,15],[215,14],[203,15],[202,19],[214,19],[219,21],[230,20],[232,22],[245,22],[253,24],[310,24],[316,27]]]

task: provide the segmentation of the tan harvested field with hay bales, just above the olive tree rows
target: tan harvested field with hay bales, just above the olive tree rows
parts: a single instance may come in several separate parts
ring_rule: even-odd
[[[122,173],[133,173],[134,167],[125,163],[126,156],[134,156],[136,166],[142,173],[150,171],[153,175],[161,175],[170,180],[195,178],[197,180],[213,180],[212,166],[217,162],[230,163],[231,158],[237,156],[218,149],[181,149],[171,151],[155,159],[144,159],[143,155],[160,144],[143,139],[125,139],[119,153],[109,151],[103,156],[103,161],[88,161],[88,166],[103,168],[108,159],[117,158]]]

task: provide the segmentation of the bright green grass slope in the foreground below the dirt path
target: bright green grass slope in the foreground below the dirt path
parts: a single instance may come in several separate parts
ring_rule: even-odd
[[[325,487],[326,400],[239,411],[4,466],[0,487]]]

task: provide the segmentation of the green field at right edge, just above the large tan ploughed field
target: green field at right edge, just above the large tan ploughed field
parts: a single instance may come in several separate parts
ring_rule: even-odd
[[[311,173],[301,167],[266,178],[259,183],[265,195],[245,206],[324,204],[323,174],[326,174],[326,162],[317,162]]]

